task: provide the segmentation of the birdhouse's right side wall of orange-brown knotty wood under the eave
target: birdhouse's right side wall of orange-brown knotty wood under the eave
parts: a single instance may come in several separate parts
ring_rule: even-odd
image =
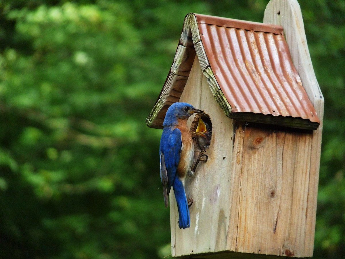
[[[228,250],[304,257],[312,137],[238,123]]]

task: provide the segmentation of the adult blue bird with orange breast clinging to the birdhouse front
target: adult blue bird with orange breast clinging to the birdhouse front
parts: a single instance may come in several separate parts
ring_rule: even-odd
[[[194,144],[187,127],[188,118],[194,113],[203,111],[188,103],[172,104],[163,122],[163,133],[160,139],[160,180],[163,184],[165,207],[168,207],[168,195],[174,189],[179,214],[179,227],[189,228],[190,215],[184,188],[186,174],[193,164]]]

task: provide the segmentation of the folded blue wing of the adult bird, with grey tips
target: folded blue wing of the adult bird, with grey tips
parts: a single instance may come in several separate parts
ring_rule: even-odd
[[[160,178],[163,185],[167,184],[167,195],[169,195],[174,182],[176,169],[180,161],[181,148],[181,131],[178,128],[172,131],[164,130],[160,140]]]

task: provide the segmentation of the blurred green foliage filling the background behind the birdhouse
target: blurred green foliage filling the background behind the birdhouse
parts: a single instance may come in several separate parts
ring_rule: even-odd
[[[189,12],[268,0],[0,2],[0,257],[170,253],[161,131],[145,125]],[[300,1],[325,120],[315,258],[345,253],[345,2]]]

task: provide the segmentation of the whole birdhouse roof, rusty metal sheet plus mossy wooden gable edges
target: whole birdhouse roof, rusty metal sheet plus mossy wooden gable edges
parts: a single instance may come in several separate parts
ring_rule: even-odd
[[[217,103],[229,118],[315,130],[320,121],[293,65],[283,28],[190,13],[174,62],[147,125],[162,128],[179,101],[197,55]]]

